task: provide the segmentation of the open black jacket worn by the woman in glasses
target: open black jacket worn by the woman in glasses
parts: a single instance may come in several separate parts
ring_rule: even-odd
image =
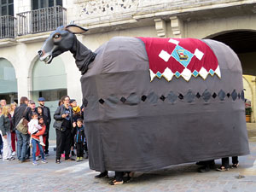
[[[71,125],[70,127],[72,128],[72,123],[73,123],[73,110],[71,107],[69,108],[69,115],[70,115],[70,122]],[[57,130],[61,130],[61,125],[63,123],[64,118],[62,118],[62,114],[65,114],[65,106],[61,105],[59,108],[56,109],[55,114],[54,114],[54,119],[55,119],[55,123],[53,125],[53,127]]]

